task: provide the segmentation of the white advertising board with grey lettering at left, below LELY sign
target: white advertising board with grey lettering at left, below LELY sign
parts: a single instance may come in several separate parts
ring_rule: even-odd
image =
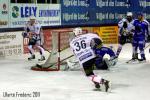
[[[21,32],[0,33],[0,56],[15,56],[23,54],[23,37]]]

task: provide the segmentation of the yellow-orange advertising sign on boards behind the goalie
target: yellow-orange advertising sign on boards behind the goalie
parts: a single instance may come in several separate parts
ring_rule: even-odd
[[[94,31],[99,34],[104,44],[118,43],[118,26],[103,26],[94,28]]]

